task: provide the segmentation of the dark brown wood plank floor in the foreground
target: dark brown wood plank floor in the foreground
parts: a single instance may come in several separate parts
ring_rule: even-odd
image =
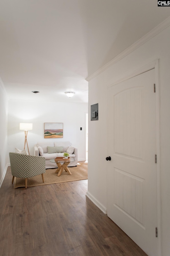
[[[86,197],[87,180],[0,189],[1,256],[146,256]]]

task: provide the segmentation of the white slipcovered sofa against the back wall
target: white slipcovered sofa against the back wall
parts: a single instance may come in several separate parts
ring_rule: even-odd
[[[65,142],[37,142],[36,145],[34,145],[34,155],[36,156],[42,156],[45,157],[45,169],[49,169],[49,168],[57,168],[57,164],[56,163],[52,163],[49,160],[52,158],[56,158],[56,157],[63,157],[63,153],[52,153],[49,154],[47,146],[51,146],[51,147],[60,147],[63,146],[63,152],[66,152],[67,150],[69,151],[69,147],[71,146],[71,143],[69,141],[65,141]],[[69,154],[69,157],[75,157],[76,160],[73,162],[70,162],[69,166],[77,166],[77,160],[78,160],[78,149],[76,147],[74,147],[74,152],[72,154]]]

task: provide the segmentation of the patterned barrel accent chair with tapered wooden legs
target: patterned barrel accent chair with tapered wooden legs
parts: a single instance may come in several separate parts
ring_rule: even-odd
[[[9,153],[11,173],[14,177],[25,178],[25,189],[27,188],[27,178],[41,174],[44,182],[45,173],[45,157],[37,157],[34,155],[23,155],[18,153]]]

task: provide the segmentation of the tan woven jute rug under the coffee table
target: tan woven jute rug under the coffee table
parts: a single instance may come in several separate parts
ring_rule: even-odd
[[[60,177],[57,177],[58,173],[55,173],[56,169],[46,169],[46,172],[44,173],[44,183],[41,175],[28,178],[27,187],[87,179],[88,163],[80,163],[76,167],[70,167],[69,170],[71,172],[71,175],[63,170]],[[24,178],[14,178],[14,189],[16,189],[17,187],[25,187]]]

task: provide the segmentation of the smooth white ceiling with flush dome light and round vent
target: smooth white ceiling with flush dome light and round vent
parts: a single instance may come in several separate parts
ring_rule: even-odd
[[[0,77],[8,98],[88,102],[85,79],[169,10],[156,0],[1,0]]]

